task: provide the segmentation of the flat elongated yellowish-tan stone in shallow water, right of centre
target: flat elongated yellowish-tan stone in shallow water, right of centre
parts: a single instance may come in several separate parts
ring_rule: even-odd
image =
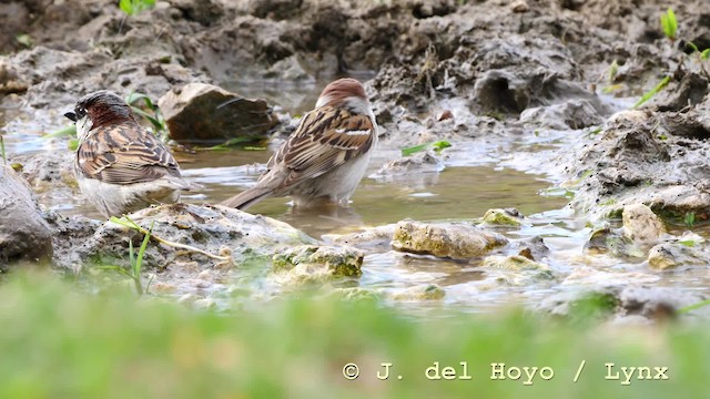
[[[397,250],[453,259],[483,256],[506,244],[506,237],[469,224],[425,224],[410,219],[397,223],[392,241]]]

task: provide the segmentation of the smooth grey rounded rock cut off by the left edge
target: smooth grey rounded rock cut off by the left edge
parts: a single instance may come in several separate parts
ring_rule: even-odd
[[[0,160],[0,269],[18,260],[47,262],[52,254],[52,234],[32,192]]]

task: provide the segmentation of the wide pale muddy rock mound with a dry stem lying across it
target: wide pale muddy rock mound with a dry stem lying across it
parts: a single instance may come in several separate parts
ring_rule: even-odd
[[[172,204],[141,209],[129,215],[131,221],[153,235],[181,245],[190,245],[205,254],[156,244],[148,245],[145,269],[162,270],[161,279],[196,279],[200,272],[223,262],[237,267],[262,266],[266,269],[275,250],[294,245],[315,244],[315,241],[290,225],[237,209],[213,205]],[[110,264],[128,266],[129,239],[138,248],[143,234],[112,222],[105,222],[67,258],[57,259],[60,266]],[[231,253],[225,256],[224,247]],[[225,259],[226,258],[226,259]],[[180,265],[197,265],[181,267]],[[220,267],[220,270],[226,269]],[[217,269],[214,269],[216,273]]]

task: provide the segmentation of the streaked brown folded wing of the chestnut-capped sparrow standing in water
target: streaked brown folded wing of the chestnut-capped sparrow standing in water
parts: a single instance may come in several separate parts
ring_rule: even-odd
[[[268,161],[271,170],[283,163],[291,173],[282,186],[317,177],[366,153],[376,127],[367,115],[322,106],[307,113],[296,131]]]

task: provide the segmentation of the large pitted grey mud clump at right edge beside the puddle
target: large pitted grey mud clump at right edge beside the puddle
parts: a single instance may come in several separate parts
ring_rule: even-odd
[[[698,122],[696,113],[670,114],[686,124]],[[662,124],[668,116],[643,111],[619,113],[607,122],[598,140],[570,152],[575,160],[567,170],[584,176],[572,205],[591,218],[619,213],[636,203],[674,217],[710,207],[710,143],[674,135]]]

